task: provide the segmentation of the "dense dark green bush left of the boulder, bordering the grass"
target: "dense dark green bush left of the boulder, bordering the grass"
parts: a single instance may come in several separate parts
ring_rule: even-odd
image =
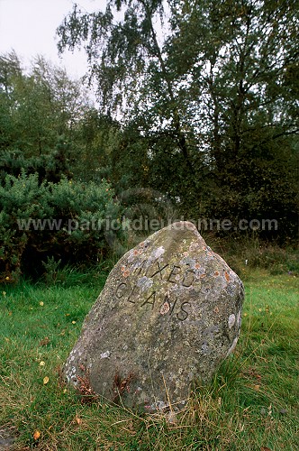
[[[18,178],[6,176],[0,187],[0,207],[1,281],[15,281],[21,272],[41,275],[41,262],[47,258],[48,267],[60,259],[96,262],[111,251],[112,232],[106,219],[119,224],[121,215],[105,181],[99,185],[68,179],[40,183],[38,174],[24,171]],[[54,277],[56,269],[48,272]]]

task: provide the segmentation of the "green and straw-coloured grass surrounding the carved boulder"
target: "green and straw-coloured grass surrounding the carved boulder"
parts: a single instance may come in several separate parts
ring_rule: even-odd
[[[82,403],[61,383],[59,368],[105,275],[89,279],[0,291],[0,427],[13,430],[17,449],[299,449],[298,277],[248,270],[236,352],[174,421],[98,400]]]

